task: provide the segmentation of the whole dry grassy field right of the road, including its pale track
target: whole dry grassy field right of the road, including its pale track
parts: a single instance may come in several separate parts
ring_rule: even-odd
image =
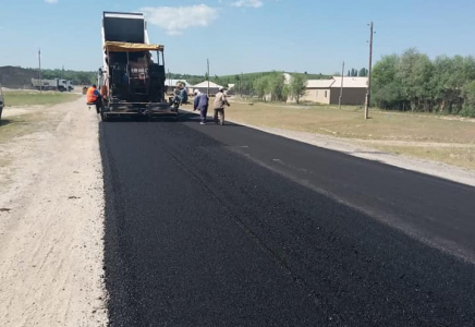
[[[455,117],[372,109],[363,119],[357,106],[263,104],[238,101],[227,119],[261,128],[327,134],[385,152],[475,169],[475,122]],[[453,146],[451,146],[453,145]]]

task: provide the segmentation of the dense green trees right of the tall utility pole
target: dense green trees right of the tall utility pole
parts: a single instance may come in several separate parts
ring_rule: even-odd
[[[434,60],[412,48],[385,56],[373,70],[372,102],[381,108],[475,117],[475,59]]]

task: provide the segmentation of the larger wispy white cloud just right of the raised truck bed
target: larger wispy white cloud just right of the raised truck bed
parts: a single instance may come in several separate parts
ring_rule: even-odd
[[[191,7],[146,7],[141,9],[147,21],[167,31],[169,35],[181,35],[190,27],[209,26],[218,19],[218,10],[206,4]]]

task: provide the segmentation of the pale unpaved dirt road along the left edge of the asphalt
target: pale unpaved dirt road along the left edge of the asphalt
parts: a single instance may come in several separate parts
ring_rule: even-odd
[[[27,132],[0,148],[0,326],[106,326],[96,116],[81,99],[12,117]]]

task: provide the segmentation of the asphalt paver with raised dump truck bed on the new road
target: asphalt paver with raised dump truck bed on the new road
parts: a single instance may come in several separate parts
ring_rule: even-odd
[[[98,86],[102,121],[118,116],[179,117],[166,100],[162,45],[151,45],[142,13],[103,12]]]

